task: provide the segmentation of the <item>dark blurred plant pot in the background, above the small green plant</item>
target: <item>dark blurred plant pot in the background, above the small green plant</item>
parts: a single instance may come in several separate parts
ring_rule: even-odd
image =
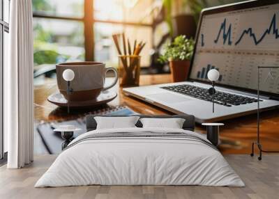
[[[177,15],[172,18],[173,37],[186,35],[187,38],[195,38],[197,24],[193,15]]]

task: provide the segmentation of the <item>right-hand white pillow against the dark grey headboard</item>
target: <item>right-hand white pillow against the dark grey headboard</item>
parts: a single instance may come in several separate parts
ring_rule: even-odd
[[[185,119],[182,118],[141,118],[143,128],[182,129]]]

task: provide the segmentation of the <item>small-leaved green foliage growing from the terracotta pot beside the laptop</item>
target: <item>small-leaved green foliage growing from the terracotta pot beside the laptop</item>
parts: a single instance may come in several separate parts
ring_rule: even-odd
[[[164,47],[164,52],[158,59],[160,63],[167,63],[171,60],[190,60],[193,56],[195,41],[186,38],[185,35],[179,35],[174,41]]]

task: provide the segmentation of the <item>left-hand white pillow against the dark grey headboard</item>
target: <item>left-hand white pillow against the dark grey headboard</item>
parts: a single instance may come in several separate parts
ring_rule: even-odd
[[[139,116],[129,117],[100,117],[96,116],[94,119],[97,122],[96,129],[119,129],[136,127],[135,124],[139,120]]]

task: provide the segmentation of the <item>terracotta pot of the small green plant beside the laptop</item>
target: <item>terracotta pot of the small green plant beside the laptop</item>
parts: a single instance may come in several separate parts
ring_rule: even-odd
[[[186,81],[190,69],[190,61],[169,61],[172,81]]]

